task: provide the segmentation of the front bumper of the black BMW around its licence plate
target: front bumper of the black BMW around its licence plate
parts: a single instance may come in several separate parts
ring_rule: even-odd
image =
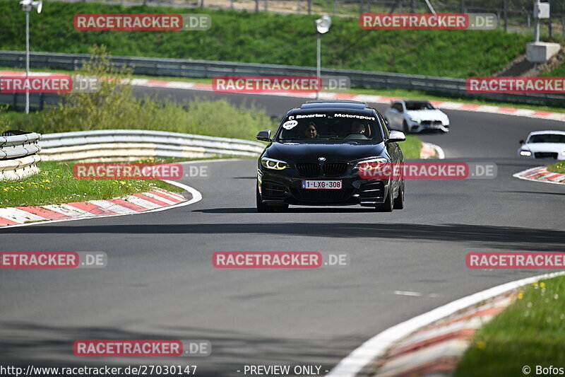
[[[283,171],[285,173],[283,173]],[[302,180],[341,180],[339,190],[305,190]],[[390,187],[390,179],[368,180],[359,178],[357,171],[338,177],[302,177],[296,170],[257,171],[257,183],[261,199],[268,204],[301,205],[355,205],[374,207],[384,202]]]

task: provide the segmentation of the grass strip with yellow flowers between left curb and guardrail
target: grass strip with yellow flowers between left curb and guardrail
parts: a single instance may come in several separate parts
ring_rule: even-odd
[[[73,162],[43,161],[41,173],[23,180],[0,180],[0,207],[37,206],[122,197],[160,187],[182,189],[160,180],[77,180]]]

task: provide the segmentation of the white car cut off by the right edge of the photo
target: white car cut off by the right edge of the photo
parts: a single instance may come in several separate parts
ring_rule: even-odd
[[[535,131],[520,141],[518,156],[524,158],[555,158],[565,160],[565,132]]]

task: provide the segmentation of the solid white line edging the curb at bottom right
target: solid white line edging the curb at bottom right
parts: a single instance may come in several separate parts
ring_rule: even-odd
[[[464,308],[468,308],[477,302],[504,294],[506,291],[511,291],[512,289],[517,289],[526,284],[537,282],[537,280],[540,279],[549,279],[551,277],[557,277],[564,274],[565,271],[553,272],[551,274],[528,277],[516,280],[516,282],[509,282],[495,286],[494,288],[460,298],[444,306],[440,306],[433,311],[429,311],[428,313],[418,315],[415,318],[399,323],[398,325],[390,327],[380,334],[371,337],[371,339],[367,340],[367,342],[361,344],[360,347],[347,355],[345,359],[340,361],[335,368],[326,374],[326,377],[355,377],[364,366],[374,359],[382,356],[384,352],[391,347],[391,344],[398,342],[398,340],[412,334],[412,332],[419,330],[425,325],[434,323],[436,320],[441,320],[441,318],[445,318],[446,316],[456,313]]]

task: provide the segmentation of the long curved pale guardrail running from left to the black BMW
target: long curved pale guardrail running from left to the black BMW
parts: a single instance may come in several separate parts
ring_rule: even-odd
[[[133,161],[156,156],[258,156],[265,148],[265,145],[256,141],[140,129],[44,134],[40,146],[44,161]]]

